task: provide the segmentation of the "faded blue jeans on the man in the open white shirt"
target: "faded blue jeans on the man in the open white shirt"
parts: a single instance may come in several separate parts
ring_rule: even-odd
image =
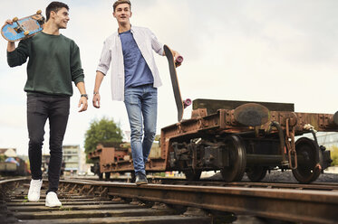
[[[152,84],[127,88],[124,90],[124,104],[130,122],[130,145],[134,170],[136,174],[146,174],[145,164],[156,135],[158,90],[153,88]]]

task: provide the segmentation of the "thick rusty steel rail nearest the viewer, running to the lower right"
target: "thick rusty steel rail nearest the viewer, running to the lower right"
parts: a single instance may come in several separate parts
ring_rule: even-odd
[[[107,194],[140,201],[196,207],[204,210],[230,211],[270,219],[305,223],[336,223],[337,191],[302,191],[246,187],[183,186],[148,184],[136,186],[119,182],[74,182],[105,187]]]

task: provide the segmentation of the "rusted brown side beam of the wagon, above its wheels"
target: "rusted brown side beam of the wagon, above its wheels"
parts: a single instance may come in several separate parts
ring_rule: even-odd
[[[161,139],[168,142],[168,138],[183,137],[184,135],[203,135],[205,132],[239,133],[255,130],[254,126],[243,126],[237,122],[234,114],[236,110],[219,109],[216,114],[207,117],[191,118],[180,123],[161,129]],[[305,125],[314,126],[317,131],[338,131],[338,125],[333,122],[332,114],[295,113],[284,111],[270,111],[266,123],[259,129],[266,130],[272,121],[278,122],[285,128],[286,120],[290,119],[290,126],[295,126],[297,135],[308,133]],[[163,145],[164,146],[164,145]]]

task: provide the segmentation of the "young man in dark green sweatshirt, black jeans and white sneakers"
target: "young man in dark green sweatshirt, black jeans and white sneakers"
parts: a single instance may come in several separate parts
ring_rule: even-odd
[[[29,134],[29,160],[32,181],[28,191],[29,201],[39,201],[43,173],[42,146],[43,127],[46,119],[50,125],[50,163],[48,167],[49,189],[45,205],[61,206],[56,191],[59,186],[63,160],[63,136],[66,130],[72,96],[72,81],[81,93],[80,111],[88,107],[84,87],[84,75],[79,47],[71,39],[63,36],[60,29],[66,29],[69,22],[69,7],[60,2],[52,2],[46,8],[46,23],[43,31],[19,42],[8,42],[7,62],[10,67],[27,64],[27,126]],[[7,20],[5,23],[13,23]]]

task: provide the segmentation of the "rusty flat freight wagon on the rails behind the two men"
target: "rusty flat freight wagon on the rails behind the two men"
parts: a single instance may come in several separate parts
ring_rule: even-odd
[[[220,171],[225,182],[253,182],[272,169],[291,169],[298,182],[314,182],[330,166],[330,151],[315,133],[338,131],[338,112],[294,112],[293,104],[196,99],[191,118],[161,129],[160,154],[146,165],[150,173],[179,171],[198,180]],[[312,133],[314,139],[305,133]],[[89,154],[95,173],[132,172],[129,147],[99,145]]]

